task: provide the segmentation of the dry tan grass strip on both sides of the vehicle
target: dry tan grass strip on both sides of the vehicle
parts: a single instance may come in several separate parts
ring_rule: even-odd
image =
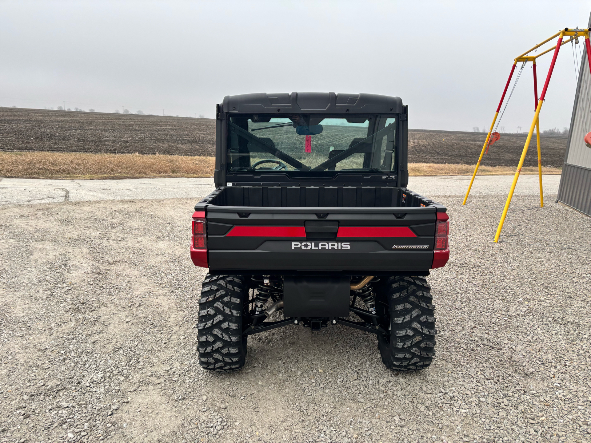
[[[0,152],[0,177],[21,178],[132,178],[211,177],[213,157],[180,155],[83,154],[78,152]],[[474,165],[410,163],[410,175],[472,175]],[[542,168],[560,174],[559,168]],[[515,168],[480,166],[479,175],[511,175]],[[526,167],[521,174],[537,174]]]

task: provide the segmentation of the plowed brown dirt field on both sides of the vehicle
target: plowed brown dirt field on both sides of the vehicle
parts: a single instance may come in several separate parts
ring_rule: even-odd
[[[408,162],[475,164],[485,138],[478,132],[410,129]],[[561,166],[566,142],[566,136],[542,136],[542,164]],[[503,134],[482,164],[514,167],[524,143],[525,134]],[[215,120],[0,108],[0,150],[213,156]],[[524,165],[537,165],[535,139]]]

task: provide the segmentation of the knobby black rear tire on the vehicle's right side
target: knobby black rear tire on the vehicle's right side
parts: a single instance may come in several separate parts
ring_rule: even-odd
[[[378,335],[382,362],[395,371],[425,369],[435,354],[431,286],[424,277],[391,277],[385,285],[390,336]]]

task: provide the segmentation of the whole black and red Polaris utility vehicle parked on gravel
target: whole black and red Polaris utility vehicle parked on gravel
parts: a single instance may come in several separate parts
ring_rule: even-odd
[[[251,334],[341,324],[376,334],[392,370],[429,366],[425,276],[449,258],[449,222],[444,206],[405,188],[408,106],[260,93],[226,96],[216,119],[216,190],[195,205],[191,240],[193,263],[209,268],[200,364],[239,370]]]

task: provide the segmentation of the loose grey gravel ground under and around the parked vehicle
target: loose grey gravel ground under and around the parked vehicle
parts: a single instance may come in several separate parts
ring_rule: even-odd
[[[439,197],[437,355],[292,325],[235,374],[197,364],[194,198],[0,208],[1,441],[589,441],[589,219],[517,196]]]

